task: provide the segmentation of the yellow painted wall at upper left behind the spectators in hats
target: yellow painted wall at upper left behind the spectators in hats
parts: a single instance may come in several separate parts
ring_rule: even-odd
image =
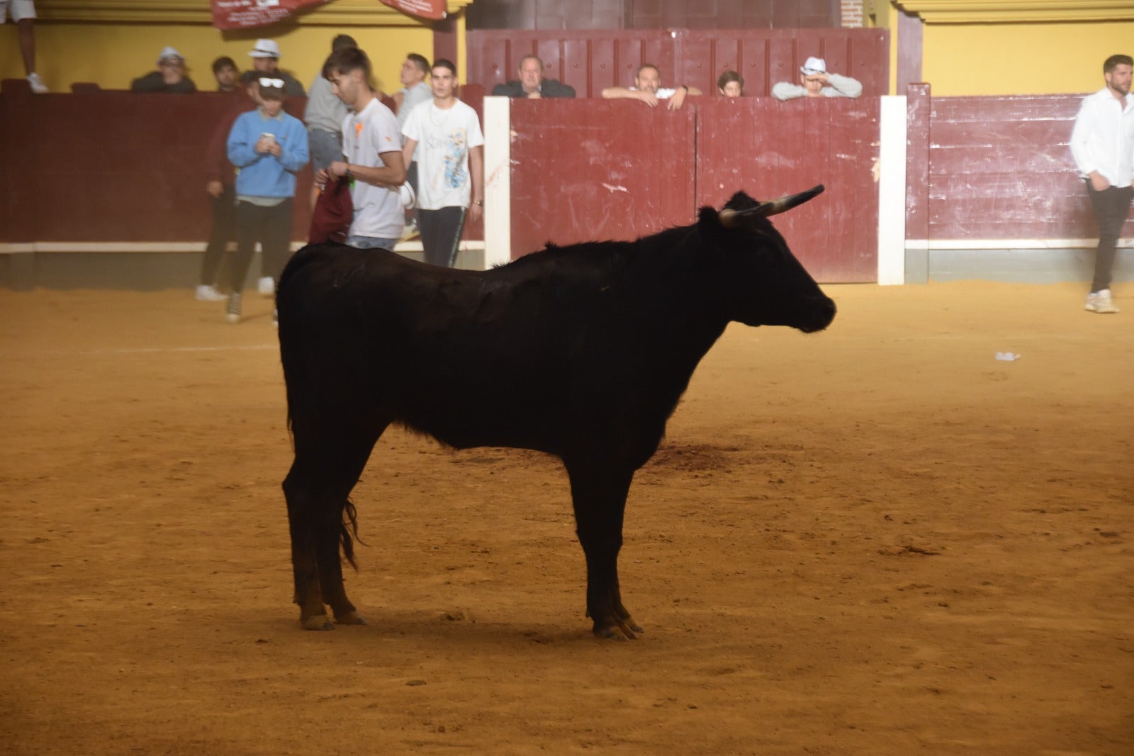
[[[107,90],[129,89],[130,81],[156,69],[167,44],[186,58],[197,89],[212,91],[212,61],[230,56],[242,70],[252,68],[248,52],[259,36],[280,44],[280,67],[310,86],[331,51],[336,34],[349,34],[370,56],[374,84],[384,92],[400,85],[398,74],[409,52],[433,58],[433,32],[426,26],[289,26],[251,30],[239,35],[196,24],[81,24],[35,26],[36,68],[52,92],[70,91],[73,82],[95,82]],[[0,78],[23,78],[24,65],[14,24],[0,26]]]

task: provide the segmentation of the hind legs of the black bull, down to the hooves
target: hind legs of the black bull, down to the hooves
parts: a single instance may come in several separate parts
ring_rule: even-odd
[[[307,630],[333,627],[324,604],[331,606],[336,622],[365,624],[342,585],[339,545],[353,564],[354,509],[348,496],[382,429],[384,426],[366,434],[344,434],[340,429],[315,443],[295,430],[296,457],[284,481],[284,494],[291,530],[295,603]]]

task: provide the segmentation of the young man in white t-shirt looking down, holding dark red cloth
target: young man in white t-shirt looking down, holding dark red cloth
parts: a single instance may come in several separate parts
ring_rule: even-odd
[[[392,251],[404,227],[399,187],[406,180],[398,119],[370,89],[370,59],[358,48],[332,52],[323,76],[352,112],[342,119],[344,160],[320,170],[315,183],[346,176],[354,203],[347,244]]]

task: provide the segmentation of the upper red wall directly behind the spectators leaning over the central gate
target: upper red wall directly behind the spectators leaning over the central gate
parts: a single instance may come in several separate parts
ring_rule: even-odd
[[[854,76],[863,94],[889,86],[888,33],[872,28],[610,30],[468,32],[468,81],[491,92],[516,78],[519,59],[535,53],[545,76],[575,87],[581,98],[601,96],[607,86],[632,86],[644,62],[657,65],[662,85],[692,84],[717,91],[727,69],[744,76],[745,94],[763,96],[772,84],[798,79],[807,56],[827,58],[829,70]]]

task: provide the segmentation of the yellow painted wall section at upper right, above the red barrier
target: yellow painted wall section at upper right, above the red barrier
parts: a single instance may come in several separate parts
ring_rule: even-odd
[[[923,44],[937,95],[1093,92],[1103,60],[1134,54],[1134,23],[929,24]]]

